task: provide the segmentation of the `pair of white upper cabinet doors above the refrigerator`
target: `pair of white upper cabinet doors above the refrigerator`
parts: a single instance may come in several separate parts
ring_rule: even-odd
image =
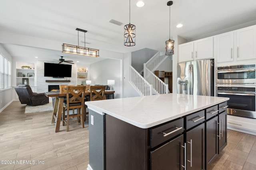
[[[212,59],[213,37],[178,45],[178,62]]]

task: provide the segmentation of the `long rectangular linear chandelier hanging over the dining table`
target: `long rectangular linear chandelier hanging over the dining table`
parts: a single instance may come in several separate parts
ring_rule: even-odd
[[[62,53],[71,53],[78,55],[87,55],[91,57],[99,57],[99,50],[85,47],[85,33],[84,29],[76,28],[78,32],[78,45],[62,44]],[[84,33],[84,47],[79,46],[79,31]]]

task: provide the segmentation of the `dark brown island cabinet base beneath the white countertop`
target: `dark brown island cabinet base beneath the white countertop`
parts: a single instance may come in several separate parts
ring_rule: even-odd
[[[207,170],[227,145],[226,109],[222,102],[146,129],[90,110],[87,170]]]

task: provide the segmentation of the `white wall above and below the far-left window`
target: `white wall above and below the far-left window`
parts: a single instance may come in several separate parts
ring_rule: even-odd
[[[0,53],[12,62],[10,54],[0,45]],[[10,102],[12,102],[12,88],[0,90],[0,111],[2,111]]]

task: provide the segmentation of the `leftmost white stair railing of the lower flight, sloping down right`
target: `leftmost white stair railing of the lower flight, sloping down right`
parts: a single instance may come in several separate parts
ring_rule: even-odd
[[[152,85],[149,84],[132,66],[130,66],[130,82],[141,96],[152,95]]]

